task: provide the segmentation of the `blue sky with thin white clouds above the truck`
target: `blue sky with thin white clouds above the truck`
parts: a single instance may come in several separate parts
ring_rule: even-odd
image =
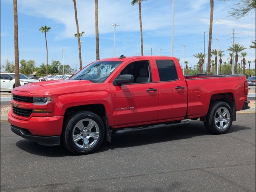
[[[238,0],[214,1],[215,22],[212,31],[212,49],[225,50],[223,61],[227,61],[229,46],[232,46],[233,29],[235,42],[247,49],[246,60],[255,60],[255,49],[249,49],[255,37],[255,11],[239,20],[228,16],[230,8]],[[14,61],[13,1],[0,1],[0,62]],[[76,0],[78,23],[82,42],[82,66],[96,60],[95,18],[93,0]],[[141,4],[144,55],[171,56],[172,1],[147,0]],[[209,28],[210,0],[176,0],[174,6],[174,56],[196,65],[193,55],[204,52],[204,31]],[[140,55],[140,25],[138,5],[131,0],[98,0],[98,22],[100,58],[114,55],[114,27],[116,26],[116,56]],[[51,27],[47,33],[48,61],[59,60],[71,68],[79,68],[78,41],[74,37],[76,22],[72,0],[18,0],[19,59],[35,60],[36,66],[46,62],[46,45],[41,26]],[[208,50],[208,31],[206,48]],[[183,54],[183,47],[185,45]],[[185,55],[185,57],[184,57]],[[213,59],[213,58],[212,58]],[[240,58],[239,60],[241,60]],[[207,60],[207,58],[206,58]],[[247,63],[248,65],[248,63]]]

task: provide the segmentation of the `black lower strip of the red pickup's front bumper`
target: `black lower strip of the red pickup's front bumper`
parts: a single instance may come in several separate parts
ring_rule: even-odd
[[[40,145],[46,145],[46,146],[56,146],[56,145],[60,145],[60,136],[34,136],[32,134],[30,134],[30,132],[28,130],[16,127],[11,125],[11,130],[12,132],[14,132],[15,134],[30,140],[30,141],[34,141],[37,142]]]

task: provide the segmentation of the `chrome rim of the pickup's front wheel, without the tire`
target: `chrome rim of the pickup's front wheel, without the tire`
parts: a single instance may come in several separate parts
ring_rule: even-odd
[[[79,148],[88,149],[98,141],[100,129],[98,124],[89,118],[77,122],[73,128],[73,141]]]

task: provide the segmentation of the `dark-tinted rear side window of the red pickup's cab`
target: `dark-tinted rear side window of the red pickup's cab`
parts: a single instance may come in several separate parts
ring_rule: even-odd
[[[160,81],[172,81],[178,79],[175,64],[172,60],[156,60]]]

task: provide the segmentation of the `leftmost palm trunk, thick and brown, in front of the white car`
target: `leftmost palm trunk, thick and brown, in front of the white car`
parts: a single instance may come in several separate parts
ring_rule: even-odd
[[[14,77],[15,77],[15,87],[18,87],[20,86],[20,68],[19,68],[17,0],[13,0],[13,17],[14,17]]]

